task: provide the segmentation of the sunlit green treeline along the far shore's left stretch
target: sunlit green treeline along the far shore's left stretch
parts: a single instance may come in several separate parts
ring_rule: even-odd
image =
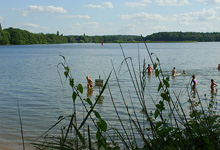
[[[62,34],[43,34],[30,33],[26,30],[17,28],[1,29],[0,26],[0,45],[26,45],[26,44],[61,44],[61,43],[114,43],[114,42],[141,42],[140,36],[133,35],[106,35],[106,36],[87,36]]]

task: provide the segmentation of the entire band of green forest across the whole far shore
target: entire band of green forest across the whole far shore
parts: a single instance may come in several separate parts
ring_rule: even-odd
[[[198,32],[159,32],[144,37],[147,42],[219,42],[220,33]],[[25,45],[25,44],[61,44],[61,43],[134,43],[143,42],[138,35],[68,35],[63,36],[57,31],[56,34],[30,33],[17,28],[2,29],[0,24],[0,45]]]

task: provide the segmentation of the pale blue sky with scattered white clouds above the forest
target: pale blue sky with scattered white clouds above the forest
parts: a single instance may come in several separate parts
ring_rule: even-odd
[[[63,35],[220,32],[220,0],[0,0],[0,23]]]

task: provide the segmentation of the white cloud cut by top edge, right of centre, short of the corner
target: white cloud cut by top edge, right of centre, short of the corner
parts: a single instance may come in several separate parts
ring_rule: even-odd
[[[158,5],[162,6],[183,6],[189,4],[188,0],[156,0]]]

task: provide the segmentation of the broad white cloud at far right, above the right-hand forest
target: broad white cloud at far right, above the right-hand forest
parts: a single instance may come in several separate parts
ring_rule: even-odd
[[[218,19],[215,9],[203,9],[200,12],[189,12],[184,14],[174,15],[177,21],[184,24],[192,24],[193,22],[207,22]]]

